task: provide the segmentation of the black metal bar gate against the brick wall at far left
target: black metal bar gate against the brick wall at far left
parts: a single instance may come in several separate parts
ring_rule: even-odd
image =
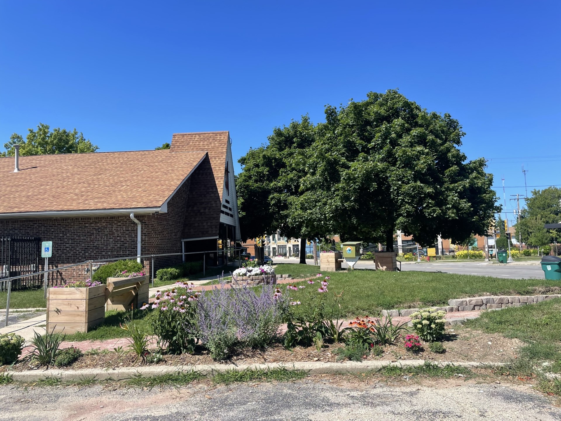
[[[37,237],[0,237],[0,280],[12,276],[40,272],[39,255],[41,239]],[[0,288],[6,288],[2,282]],[[12,281],[12,289],[43,285],[40,275]]]

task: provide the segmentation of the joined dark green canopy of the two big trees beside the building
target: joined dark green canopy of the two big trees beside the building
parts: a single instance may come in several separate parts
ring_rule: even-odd
[[[325,123],[274,129],[240,159],[242,235],[339,234],[384,242],[396,230],[423,245],[486,235],[498,210],[483,158],[466,162],[450,115],[427,112],[395,90],[325,107]],[[243,231],[247,230],[247,231]]]

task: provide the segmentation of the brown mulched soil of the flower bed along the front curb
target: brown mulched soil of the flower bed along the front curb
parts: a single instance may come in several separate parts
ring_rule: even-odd
[[[502,362],[516,357],[517,351],[522,342],[516,339],[505,338],[499,334],[488,334],[474,331],[468,328],[457,327],[449,328],[446,331],[444,347],[446,353],[435,354],[429,350],[428,344],[424,345],[424,350],[418,354],[413,354],[404,349],[402,342],[396,345],[383,347],[384,353],[380,356],[368,356],[368,360],[392,360],[402,359],[424,359],[434,361],[481,361],[481,362]],[[243,349],[232,356],[226,363],[234,364],[256,364],[256,363],[292,363],[295,361],[337,361],[337,355],[332,351],[341,347],[341,344],[332,344],[324,347],[318,352],[315,347],[295,347],[292,351],[286,350],[280,344],[270,346],[265,350]],[[119,368],[135,367],[144,365],[142,361],[137,361],[134,354],[126,351],[114,352],[104,350],[98,353],[89,351],[66,369],[81,368]],[[163,355],[163,361],[154,365],[196,365],[196,364],[215,364],[206,351],[201,351],[195,355]],[[29,361],[20,361],[10,369],[23,371],[29,369],[44,369],[44,367],[34,367]],[[8,366],[0,367],[0,372],[6,371]]]

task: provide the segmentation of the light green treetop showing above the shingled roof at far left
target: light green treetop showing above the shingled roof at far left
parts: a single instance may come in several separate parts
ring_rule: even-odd
[[[47,155],[58,153],[86,153],[95,152],[99,148],[93,145],[89,139],[84,138],[82,132],[76,129],[53,129],[46,124],[39,123],[37,130],[27,129],[29,133],[24,140],[23,136],[14,133],[10,141],[4,143],[6,152],[3,156],[12,157],[15,154],[13,145],[21,145],[20,155]]]

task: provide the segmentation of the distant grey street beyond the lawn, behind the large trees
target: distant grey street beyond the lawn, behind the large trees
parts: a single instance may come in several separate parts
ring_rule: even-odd
[[[280,258],[274,259],[274,263],[298,263],[298,260]],[[306,263],[314,264],[314,260],[306,260]],[[346,268],[347,266],[343,263],[342,267]],[[355,268],[374,269],[374,263],[371,260],[365,262],[358,261],[355,264]],[[544,271],[541,270],[541,266],[539,264],[496,264],[488,262],[402,262],[401,269],[402,271],[446,272],[512,279],[545,278]]]

